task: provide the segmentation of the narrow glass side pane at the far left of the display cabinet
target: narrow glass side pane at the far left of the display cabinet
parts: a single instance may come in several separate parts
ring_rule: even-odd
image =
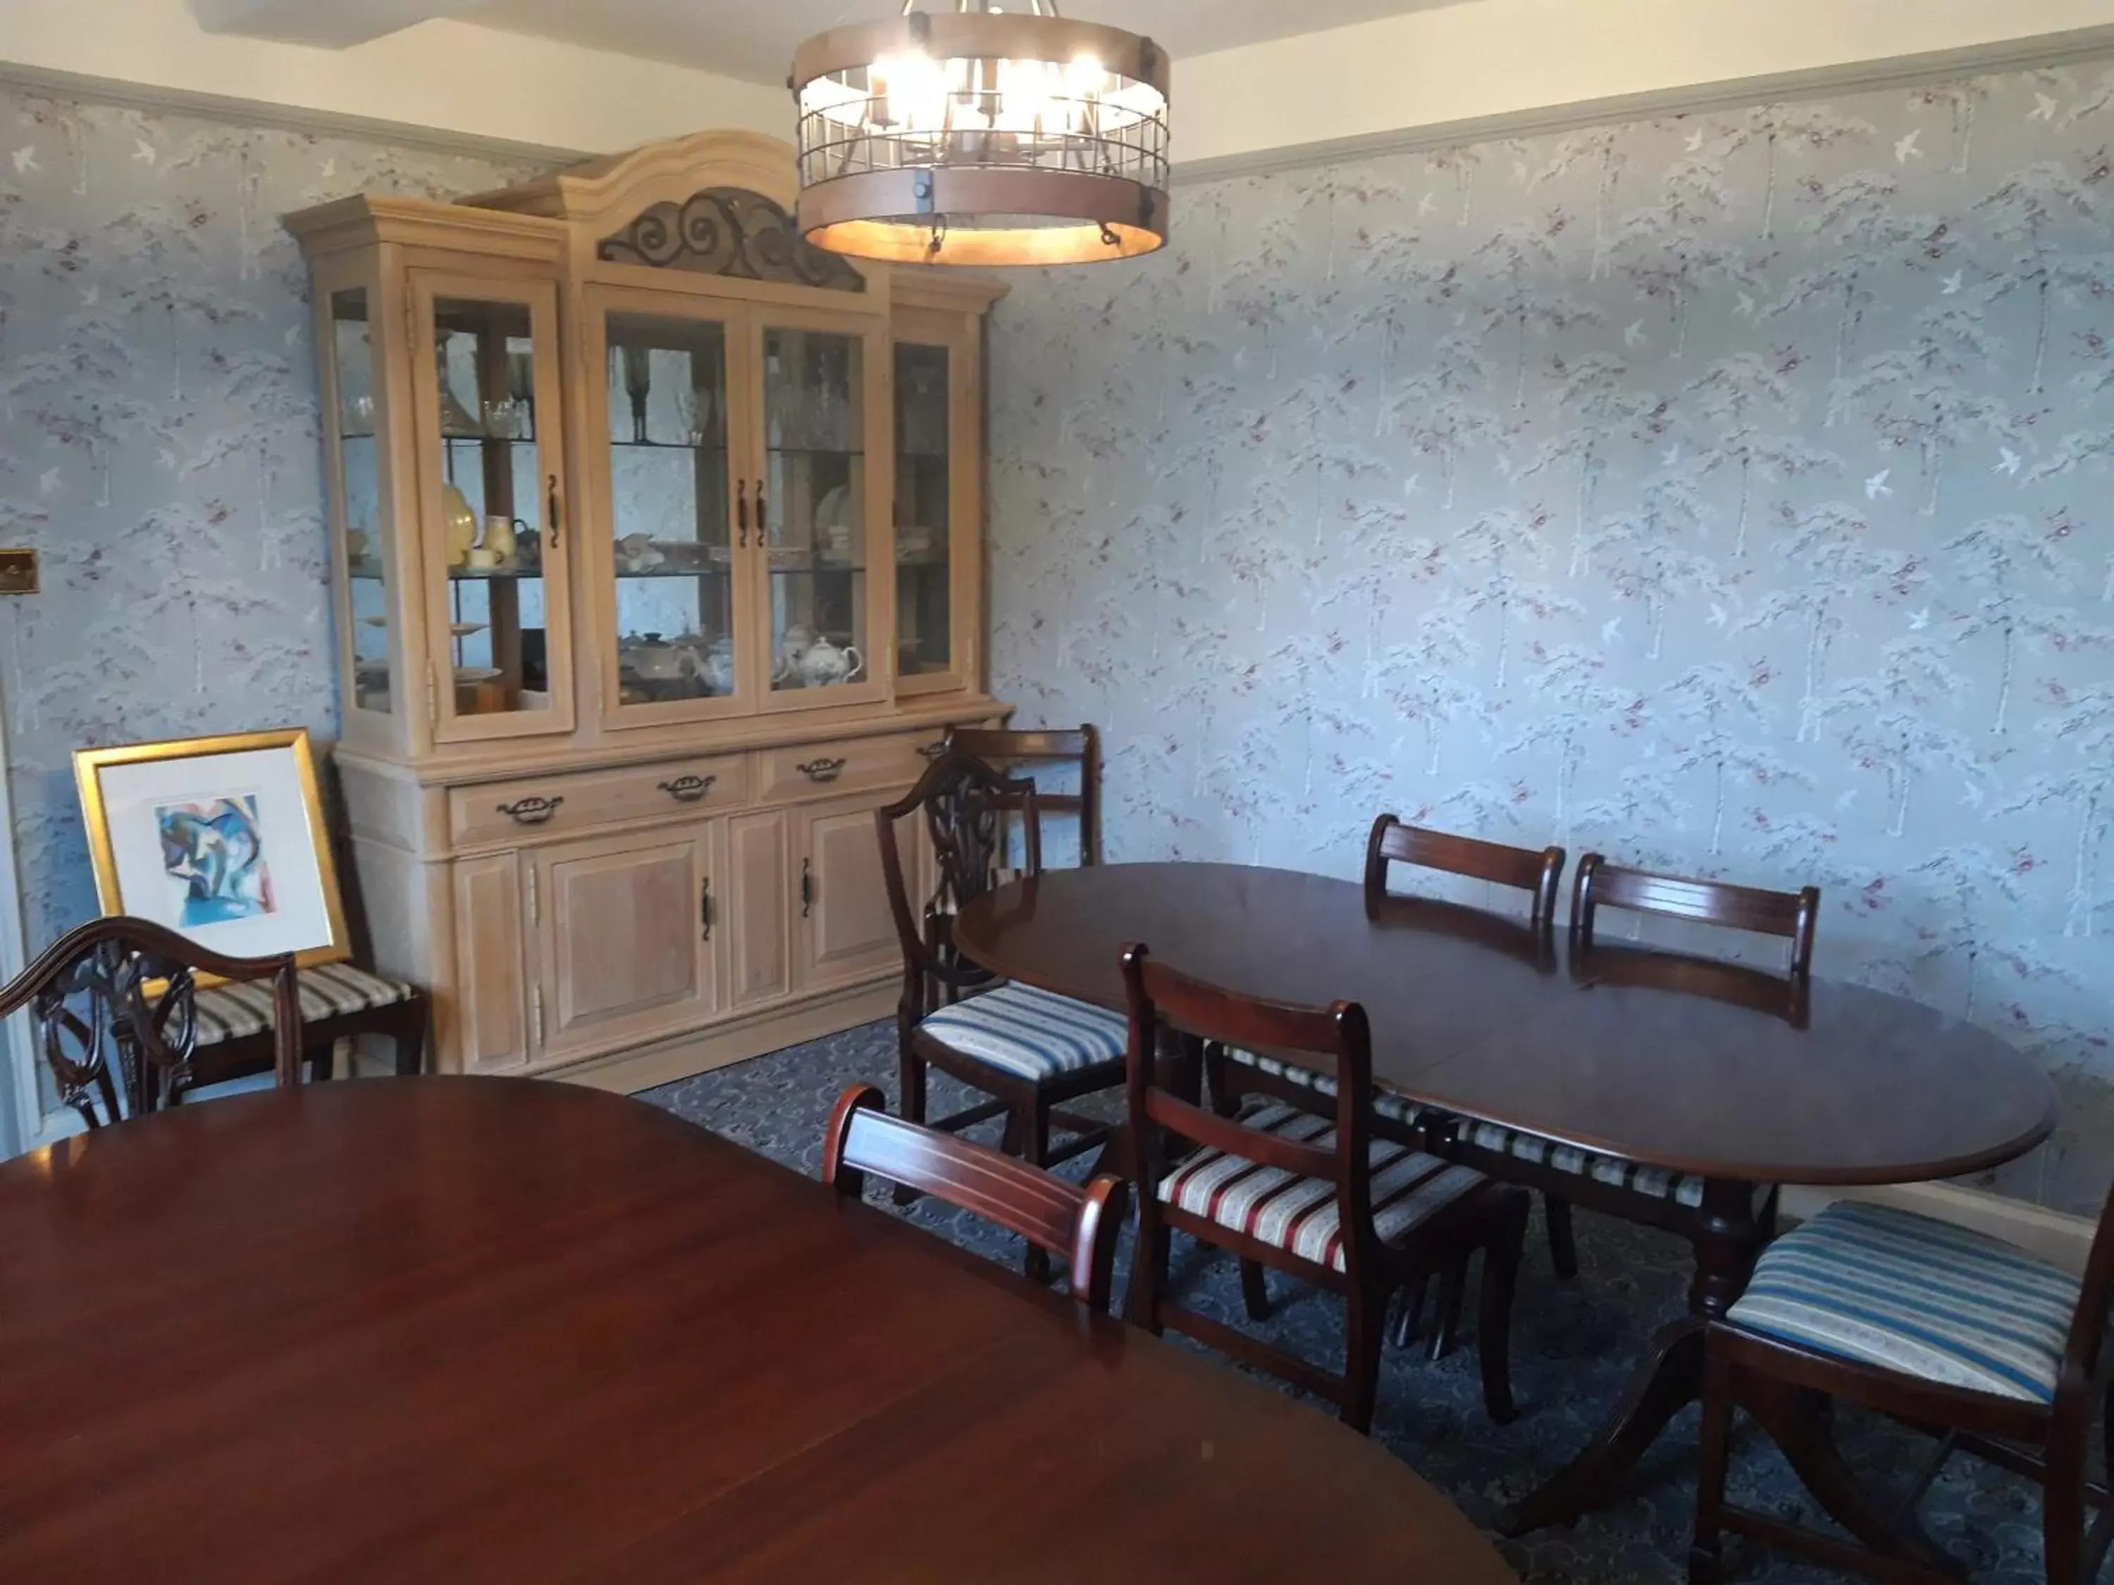
[[[351,653],[351,708],[391,714],[395,689],[389,657],[389,556],[383,522],[383,461],[376,435],[374,292],[366,285],[330,294],[330,372],[323,423],[336,435],[332,514],[345,556],[345,619]]]

